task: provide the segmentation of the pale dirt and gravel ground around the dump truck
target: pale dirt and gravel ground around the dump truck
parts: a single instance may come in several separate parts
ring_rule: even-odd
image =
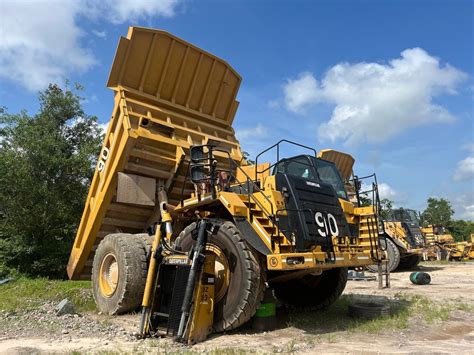
[[[445,320],[425,322],[409,319],[404,329],[345,329],[339,326],[306,326],[286,322],[271,332],[255,333],[247,329],[214,335],[193,347],[175,344],[167,338],[137,340],[132,334],[138,327],[138,315],[109,317],[95,313],[51,321],[54,327],[35,322],[49,318],[39,311],[32,321],[16,315],[0,318],[0,354],[14,353],[176,353],[211,352],[254,353],[474,353],[474,262],[425,263],[419,271],[429,272],[430,285],[409,281],[410,271],[391,274],[391,287],[379,290],[376,281],[349,281],[344,291],[352,297],[385,299],[423,296],[438,303],[463,305]],[[366,275],[369,275],[366,273]],[[354,296],[355,295],[355,296]],[[382,297],[382,298],[381,298]],[[41,313],[43,312],[43,313]],[[303,317],[304,315],[302,315]],[[317,314],[316,314],[317,316]],[[15,317],[18,319],[15,320]],[[13,320],[12,320],[13,318]],[[311,320],[311,319],[310,319]],[[53,324],[54,323],[54,324]],[[16,328],[15,328],[16,327]],[[2,329],[3,328],[3,329]]]

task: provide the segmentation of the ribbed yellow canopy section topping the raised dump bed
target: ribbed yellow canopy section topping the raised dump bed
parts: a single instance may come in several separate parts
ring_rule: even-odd
[[[107,86],[216,125],[232,124],[240,75],[225,61],[172,34],[130,27]]]

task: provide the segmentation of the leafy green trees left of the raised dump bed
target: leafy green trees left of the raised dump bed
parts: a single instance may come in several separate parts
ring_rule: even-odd
[[[65,275],[102,141],[75,89],[51,84],[34,116],[0,109],[0,273]]]

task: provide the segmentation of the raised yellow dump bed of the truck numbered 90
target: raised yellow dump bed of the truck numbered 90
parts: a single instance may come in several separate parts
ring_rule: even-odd
[[[89,278],[98,243],[140,233],[169,203],[193,192],[185,181],[189,147],[214,143],[242,159],[232,129],[241,78],[225,61],[167,32],[131,27],[121,38],[107,86],[114,109],[68,263]],[[184,193],[184,196],[183,196]]]

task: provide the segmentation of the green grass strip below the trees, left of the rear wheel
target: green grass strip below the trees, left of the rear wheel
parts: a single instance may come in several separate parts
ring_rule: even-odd
[[[80,312],[95,310],[90,281],[19,278],[0,285],[0,310],[19,311],[68,298]]]

